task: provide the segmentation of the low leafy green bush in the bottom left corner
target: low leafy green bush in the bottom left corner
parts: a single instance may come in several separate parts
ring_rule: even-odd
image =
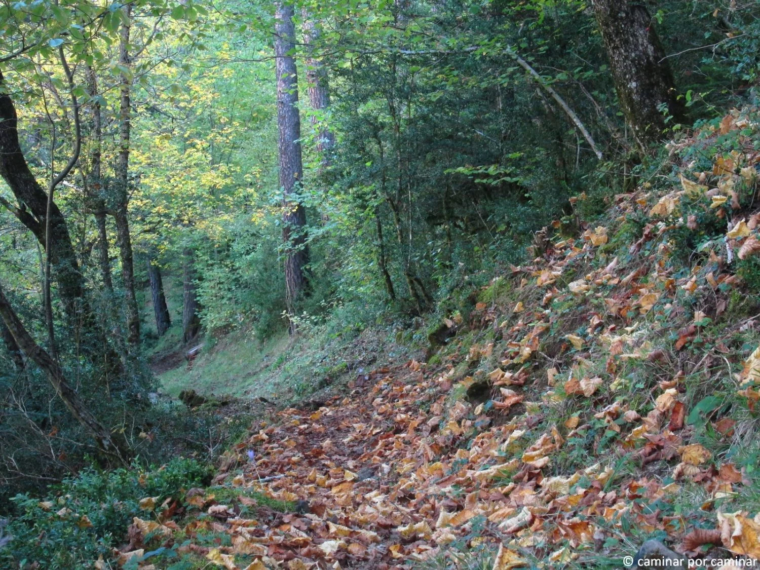
[[[158,504],[180,499],[186,489],[207,485],[212,473],[208,465],[176,458],[161,467],[86,469],[43,499],[17,495],[8,525],[13,540],[0,552],[0,566],[38,562],[49,570],[68,570],[86,568],[99,556],[108,559],[132,518],[149,516],[141,499],[157,497]]]

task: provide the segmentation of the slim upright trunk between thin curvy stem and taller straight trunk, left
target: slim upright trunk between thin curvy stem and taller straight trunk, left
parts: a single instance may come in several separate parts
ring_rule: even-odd
[[[92,150],[90,151],[90,176],[87,176],[87,202],[95,216],[97,226],[97,253],[100,277],[106,293],[113,293],[111,278],[111,261],[108,255],[108,232],[106,231],[106,201],[103,196],[103,177],[101,174],[103,149],[103,120],[100,114],[100,101],[97,98],[97,75],[95,70],[87,66],[87,91],[93,101],[90,108],[92,116]]]

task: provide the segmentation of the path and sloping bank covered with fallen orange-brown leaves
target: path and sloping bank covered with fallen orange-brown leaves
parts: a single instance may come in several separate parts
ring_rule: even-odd
[[[433,319],[428,358],[368,360],[252,426],[213,486],[149,502],[121,562],[622,568],[652,538],[760,559],[756,118],[674,144],[574,237],[538,235]]]

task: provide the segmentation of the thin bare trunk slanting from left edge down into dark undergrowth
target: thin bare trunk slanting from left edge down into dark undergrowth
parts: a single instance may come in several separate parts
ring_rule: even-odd
[[[5,298],[2,287],[0,287],[0,318],[5,322],[8,331],[11,331],[11,335],[14,337],[17,346],[45,372],[50,384],[55,388],[56,394],[59,395],[71,412],[71,415],[74,416],[74,419],[81,423],[84,429],[87,429],[87,432],[92,435],[100,451],[119,459],[123,463],[124,455],[122,450],[112,439],[109,430],[100,424],[90,410],[87,410],[79,394],[68,384],[61,366],[39,344],[36,344],[27,332],[27,329],[24,328],[8,299]]]

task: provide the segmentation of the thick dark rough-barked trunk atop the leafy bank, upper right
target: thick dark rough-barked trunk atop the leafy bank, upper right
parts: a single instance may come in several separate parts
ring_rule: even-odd
[[[676,99],[670,65],[647,8],[632,0],[592,0],[613,80],[636,141],[642,149],[663,137],[665,103],[676,121],[684,108]]]

